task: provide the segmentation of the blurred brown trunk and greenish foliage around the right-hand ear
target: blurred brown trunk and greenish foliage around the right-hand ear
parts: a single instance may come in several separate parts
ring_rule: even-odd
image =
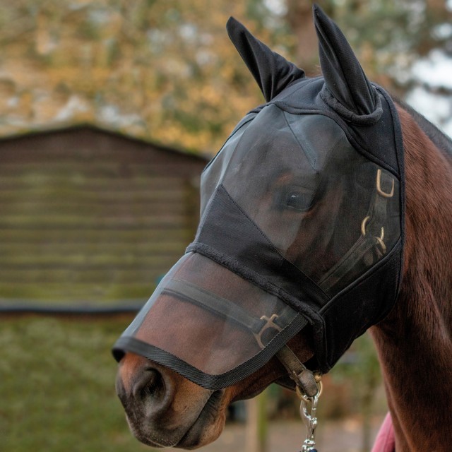
[[[315,73],[317,44],[311,25],[314,1],[285,1],[287,22],[298,37],[297,62]],[[420,83],[426,89],[437,89],[420,81],[411,68],[434,50],[445,57],[452,56],[450,1],[319,0],[316,3],[338,22],[369,78],[400,96]]]

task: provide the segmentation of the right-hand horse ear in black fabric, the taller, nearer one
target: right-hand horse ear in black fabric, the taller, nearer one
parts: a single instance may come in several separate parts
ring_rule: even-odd
[[[367,80],[343,32],[318,5],[314,5],[314,25],[326,88],[354,117],[376,112],[379,96],[375,88]]]

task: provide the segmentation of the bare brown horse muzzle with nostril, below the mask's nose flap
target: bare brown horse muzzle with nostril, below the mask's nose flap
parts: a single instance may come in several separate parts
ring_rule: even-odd
[[[224,427],[224,391],[201,388],[138,355],[121,359],[116,389],[131,432],[148,446],[197,448]]]

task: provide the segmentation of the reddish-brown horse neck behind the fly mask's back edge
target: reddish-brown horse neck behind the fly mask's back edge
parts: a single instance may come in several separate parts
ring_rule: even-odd
[[[371,328],[396,451],[452,444],[451,161],[399,109],[405,148],[403,283],[391,314]]]

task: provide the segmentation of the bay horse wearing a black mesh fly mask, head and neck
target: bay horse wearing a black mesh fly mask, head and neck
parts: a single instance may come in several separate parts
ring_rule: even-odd
[[[273,382],[313,400],[369,330],[396,451],[451,447],[452,142],[367,80],[318,6],[314,23],[306,78],[228,22],[266,104],[206,167],[194,244],[114,346],[144,444],[209,444]]]

